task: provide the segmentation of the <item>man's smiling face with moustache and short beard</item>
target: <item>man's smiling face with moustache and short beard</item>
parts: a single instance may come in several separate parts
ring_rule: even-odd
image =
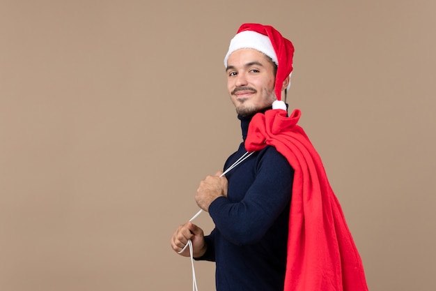
[[[255,114],[272,105],[274,64],[265,54],[253,49],[232,52],[227,61],[227,89],[236,112],[242,116]]]

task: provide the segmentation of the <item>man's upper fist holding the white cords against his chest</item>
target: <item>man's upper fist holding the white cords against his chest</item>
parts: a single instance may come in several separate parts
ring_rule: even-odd
[[[217,172],[215,176],[209,175],[200,182],[195,200],[198,206],[204,211],[208,211],[210,203],[217,197],[227,197],[228,181],[225,176],[219,177],[222,174],[221,171]]]

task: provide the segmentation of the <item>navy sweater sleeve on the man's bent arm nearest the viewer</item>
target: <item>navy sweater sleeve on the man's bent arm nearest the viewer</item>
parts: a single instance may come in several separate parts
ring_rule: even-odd
[[[215,227],[233,244],[254,244],[262,239],[290,203],[294,171],[274,147],[256,157],[254,171],[254,180],[242,200],[218,197],[208,209]]]

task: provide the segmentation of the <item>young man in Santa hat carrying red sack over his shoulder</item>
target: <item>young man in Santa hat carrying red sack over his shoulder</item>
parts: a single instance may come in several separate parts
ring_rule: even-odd
[[[216,262],[217,291],[368,290],[320,158],[296,125],[300,112],[288,117],[281,100],[293,52],[273,27],[242,24],[224,59],[243,137],[224,169],[253,154],[198,186],[196,202],[215,229],[205,236],[188,222],[171,238],[174,251],[190,239],[196,260]]]

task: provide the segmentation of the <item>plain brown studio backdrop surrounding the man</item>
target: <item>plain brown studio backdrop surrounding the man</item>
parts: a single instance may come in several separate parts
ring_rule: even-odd
[[[1,0],[0,290],[192,290],[169,238],[240,142],[242,22],[293,40],[290,108],[370,290],[436,290],[436,3],[296,2]]]

